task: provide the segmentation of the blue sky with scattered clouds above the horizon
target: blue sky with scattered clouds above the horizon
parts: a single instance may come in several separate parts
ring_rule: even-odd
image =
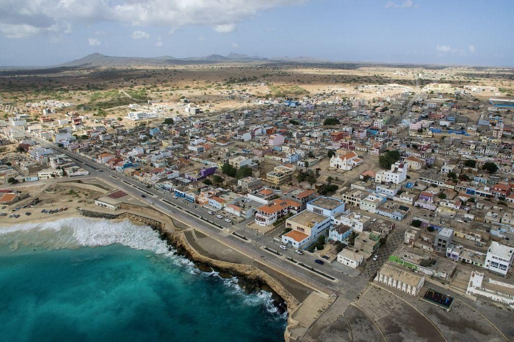
[[[514,67],[514,1],[0,0],[0,66],[230,52]]]

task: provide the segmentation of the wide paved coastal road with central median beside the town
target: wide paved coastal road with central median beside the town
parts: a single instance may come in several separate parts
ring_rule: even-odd
[[[20,130],[18,128],[13,128],[27,134],[25,131]],[[28,135],[27,135],[28,136]],[[216,236],[217,239],[227,240],[227,242],[231,246],[235,246],[236,250],[239,251],[251,251],[254,254],[262,255],[265,258],[266,263],[274,263],[277,264],[277,269],[286,269],[290,273],[294,275],[298,275],[300,277],[306,278],[309,281],[317,284],[320,287],[325,287],[340,293],[348,288],[354,288],[355,286],[355,278],[349,277],[341,273],[340,271],[335,270],[330,264],[325,263],[325,265],[317,265],[314,263],[314,257],[308,255],[306,252],[304,255],[291,254],[292,251],[281,250],[279,246],[276,244],[276,240],[269,236],[263,236],[258,232],[254,232],[252,230],[241,231],[241,227],[234,227],[231,223],[224,222],[224,219],[218,219],[215,215],[207,214],[207,210],[205,208],[197,207],[195,208],[193,204],[186,205],[182,203],[180,199],[173,198],[173,195],[170,193],[163,192],[160,189],[154,188],[146,188],[141,183],[136,180],[125,177],[124,175],[117,173],[115,171],[110,170],[104,165],[97,164],[94,160],[87,159],[82,155],[77,155],[72,153],[71,151],[62,149],[57,145],[54,145],[46,140],[40,139],[35,136],[28,136],[32,139],[37,140],[41,146],[50,147],[56,150],[59,153],[64,153],[68,155],[70,158],[75,160],[75,162],[83,167],[84,169],[90,172],[90,176],[101,177],[107,182],[113,184],[117,188],[125,191],[126,193],[132,194],[136,197],[141,197],[142,194],[146,196],[145,200],[149,203],[149,205],[153,205],[157,207],[159,210],[169,214],[170,216],[175,216],[179,220],[182,220],[184,223],[188,224],[191,227],[198,227],[203,231],[207,231],[209,236]],[[166,200],[166,202],[163,202]],[[187,211],[189,212],[187,212]],[[214,216],[214,217],[213,217]],[[223,215],[225,217],[225,215]],[[207,218],[214,224],[221,226],[223,229],[219,229],[218,227],[211,225],[205,222],[204,219]],[[232,232],[237,231],[237,234],[241,236],[245,236],[250,239],[251,242],[244,242],[243,239],[238,238],[233,235]],[[269,250],[277,251],[280,255],[276,255],[274,253],[270,253],[267,250],[263,250],[263,247],[267,247]],[[287,260],[286,257],[292,258],[297,261],[297,264],[292,263]],[[256,259],[259,262],[258,259]],[[301,265],[304,266],[301,266]],[[310,268],[310,269],[309,269]],[[325,273],[335,279],[337,282],[329,279],[328,277],[321,276],[313,270],[320,271]],[[365,284],[362,285],[362,287]],[[359,290],[356,290],[357,292]],[[351,291],[354,292],[354,291]]]

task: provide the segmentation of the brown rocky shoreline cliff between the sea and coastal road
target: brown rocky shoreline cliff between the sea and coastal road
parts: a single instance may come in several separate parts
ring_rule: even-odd
[[[188,242],[182,232],[169,232],[165,225],[155,219],[124,212],[121,214],[101,213],[82,210],[81,215],[105,219],[130,219],[150,226],[159,233],[161,239],[166,240],[175,249],[175,254],[183,256],[195,264],[195,267],[204,272],[218,272],[223,278],[237,278],[237,285],[247,293],[258,293],[263,290],[271,293],[273,305],[279,313],[296,308],[299,303],[276,279],[264,271],[251,266],[228,263],[226,261],[209,258],[198,253]],[[290,311],[288,311],[290,313]],[[288,315],[288,320],[290,314]],[[289,322],[290,323],[290,322]]]

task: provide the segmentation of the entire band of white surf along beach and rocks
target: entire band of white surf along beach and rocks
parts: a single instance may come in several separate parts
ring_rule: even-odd
[[[186,267],[190,273],[221,279],[233,291],[245,294],[236,277],[224,279],[219,272],[203,272],[194,268],[194,263],[185,257],[175,255],[175,250],[159,237],[159,233],[149,226],[138,225],[128,219],[91,219],[69,217],[54,222],[17,224],[0,227],[0,246],[8,246],[11,251],[20,247],[44,248],[47,250],[77,249],[119,244],[132,249],[146,250],[166,255],[178,267]],[[271,293],[260,291],[247,295],[244,303],[249,306],[263,305],[265,310],[286,318],[273,305]]]

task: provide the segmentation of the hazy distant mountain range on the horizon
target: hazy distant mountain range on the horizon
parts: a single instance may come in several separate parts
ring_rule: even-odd
[[[198,64],[212,62],[303,62],[303,63],[323,63],[322,59],[311,57],[273,57],[264,58],[259,56],[249,56],[242,53],[231,52],[226,56],[212,54],[205,57],[176,58],[172,56],[160,57],[116,57],[106,56],[101,53],[91,53],[75,61],[60,64],[56,67],[107,67],[107,66],[163,66],[176,64]]]

